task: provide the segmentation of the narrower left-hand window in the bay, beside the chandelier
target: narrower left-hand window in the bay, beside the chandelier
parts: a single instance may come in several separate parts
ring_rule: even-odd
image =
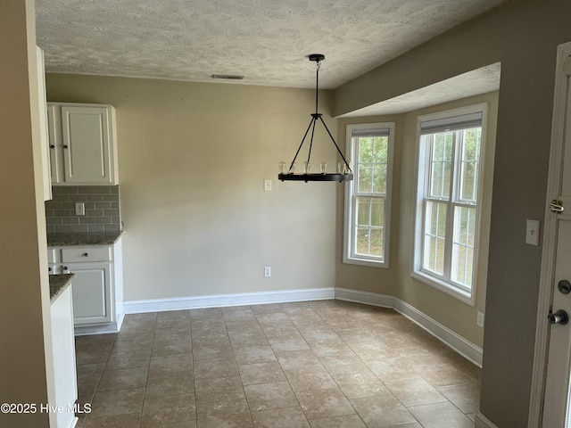
[[[347,126],[343,262],[388,268],[393,123]]]

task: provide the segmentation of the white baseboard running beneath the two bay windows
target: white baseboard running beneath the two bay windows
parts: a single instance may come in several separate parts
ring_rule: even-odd
[[[405,301],[384,294],[359,292],[344,288],[335,289],[335,299],[392,308],[404,317],[409,318],[415,324],[421,326],[428,333],[434,335],[434,337],[439,339],[441,342],[451,347],[452,350],[455,350],[463,357],[468,358],[468,360],[472,361],[476,366],[482,367],[482,348],[477,347],[472,342],[468,342],[458,333],[452,332],[450,328],[440,324],[433,318],[428,317],[426,314],[410,306],[410,304]]]

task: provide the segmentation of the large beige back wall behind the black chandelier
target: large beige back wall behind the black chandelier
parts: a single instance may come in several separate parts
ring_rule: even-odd
[[[277,181],[313,91],[71,75],[46,84],[48,101],[117,109],[125,300],[334,286],[336,184]],[[314,168],[333,168],[318,131]]]

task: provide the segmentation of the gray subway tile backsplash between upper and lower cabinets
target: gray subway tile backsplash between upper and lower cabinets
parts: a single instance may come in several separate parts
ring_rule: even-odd
[[[48,234],[120,230],[119,185],[54,185],[52,193],[46,201]],[[76,202],[85,204],[85,216],[76,215]]]

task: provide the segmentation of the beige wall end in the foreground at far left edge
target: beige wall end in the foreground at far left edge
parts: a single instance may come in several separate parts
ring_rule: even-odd
[[[33,0],[0,6],[0,181],[2,202],[11,207],[2,210],[0,222],[0,402],[39,408],[54,398],[54,374],[46,368],[53,360],[34,17]],[[49,416],[0,413],[0,426],[47,427]]]

